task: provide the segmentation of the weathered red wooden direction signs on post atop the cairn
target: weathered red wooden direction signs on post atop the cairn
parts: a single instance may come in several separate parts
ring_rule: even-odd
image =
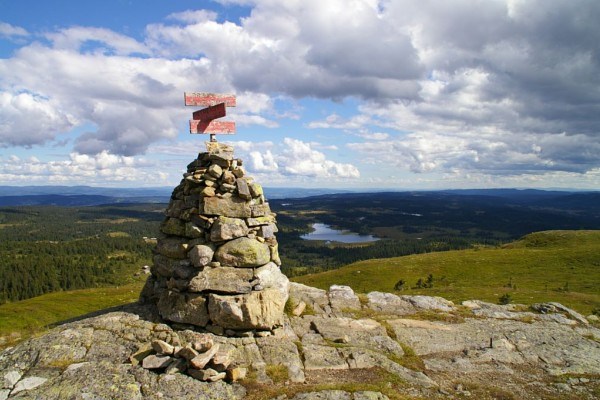
[[[236,100],[233,94],[196,93],[185,92],[186,106],[204,106],[195,111],[190,120],[190,133],[210,134],[210,141],[216,142],[217,134],[232,135],[235,133],[235,122],[215,121],[224,117],[227,107],[235,107]]]

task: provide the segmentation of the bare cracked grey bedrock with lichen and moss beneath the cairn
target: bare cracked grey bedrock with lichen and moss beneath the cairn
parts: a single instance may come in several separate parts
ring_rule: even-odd
[[[0,399],[594,399],[600,390],[600,330],[558,303],[523,311],[378,292],[356,302],[349,287],[290,286],[304,312],[254,334],[166,325],[148,304],[61,325],[0,353]]]

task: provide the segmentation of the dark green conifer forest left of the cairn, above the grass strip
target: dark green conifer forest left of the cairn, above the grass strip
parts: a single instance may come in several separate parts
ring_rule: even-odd
[[[163,206],[0,208],[0,303],[117,286],[151,262]]]

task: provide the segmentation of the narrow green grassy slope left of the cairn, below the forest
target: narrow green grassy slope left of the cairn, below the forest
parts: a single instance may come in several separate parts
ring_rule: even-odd
[[[47,325],[136,301],[143,282],[113,288],[49,293],[0,305],[0,348],[41,332]]]

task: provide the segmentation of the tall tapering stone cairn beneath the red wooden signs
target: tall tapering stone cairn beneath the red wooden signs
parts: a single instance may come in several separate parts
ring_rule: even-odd
[[[208,142],[173,190],[142,292],[165,320],[231,336],[283,323],[275,214],[242,164]]]

